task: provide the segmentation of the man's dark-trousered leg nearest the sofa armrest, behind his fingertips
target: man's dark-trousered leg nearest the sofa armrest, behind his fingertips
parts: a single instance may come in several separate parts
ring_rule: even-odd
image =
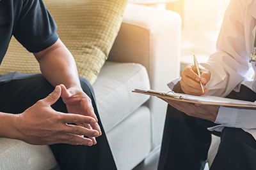
[[[52,152],[63,169],[116,169],[113,155],[109,148],[106,134],[100,122],[99,113],[95,104],[95,97],[93,93],[92,85],[85,78],[81,78],[81,86],[84,92],[92,99],[93,108],[99,125],[102,130],[102,135],[98,138],[95,146],[83,146],[83,145],[66,145],[56,144],[51,145]],[[56,110],[63,108],[60,104],[56,104]]]

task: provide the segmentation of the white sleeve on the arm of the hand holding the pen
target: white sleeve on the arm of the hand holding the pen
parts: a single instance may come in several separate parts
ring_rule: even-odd
[[[247,80],[250,70],[244,36],[244,18],[247,1],[231,0],[223,18],[216,52],[209,60],[200,63],[211,71],[211,80],[206,87],[207,95],[227,96],[232,90],[239,90],[239,84]]]

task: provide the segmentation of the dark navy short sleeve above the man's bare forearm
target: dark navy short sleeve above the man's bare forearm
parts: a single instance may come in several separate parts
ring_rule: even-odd
[[[42,0],[24,0],[13,36],[29,51],[40,52],[58,40],[57,25]]]

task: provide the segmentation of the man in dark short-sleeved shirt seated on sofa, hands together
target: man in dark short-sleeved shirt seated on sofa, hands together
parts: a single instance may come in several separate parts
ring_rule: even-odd
[[[116,169],[92,85],[56,29],[42,0],[0,0],[0,64],[15,36],[42,71],[0,75],[0,137],[50,145],[61,169]]]

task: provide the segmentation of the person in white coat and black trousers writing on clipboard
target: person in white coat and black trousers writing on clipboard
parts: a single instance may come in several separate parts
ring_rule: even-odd
[[[201,76],[188,64],[181,78],[169,86],[186,94],[256,101],[256,67],[250,62],[255,32],[256,1],[231,0],[217,50],[200,63]],[[170,105],[158,169],[204,169],[211,133],[221,136],[211,169],[256,169],[256,110],[164,100]]]

